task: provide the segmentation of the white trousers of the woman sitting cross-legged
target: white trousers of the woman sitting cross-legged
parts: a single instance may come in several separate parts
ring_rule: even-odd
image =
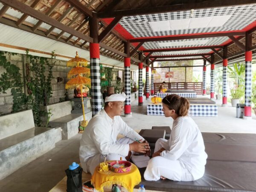
[[[162,147],[169,150],[168,141],[165,139],[158,139],[155,144],[154,152],[160,150]],[[193,176],[180,161],[169,160],[160,156],[153,157],[148,162],[144,178],[145,180],[159,180],[160,176],[177,181],[194,180]]]

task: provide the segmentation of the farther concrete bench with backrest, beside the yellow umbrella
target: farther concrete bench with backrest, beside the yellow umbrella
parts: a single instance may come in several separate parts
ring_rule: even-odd
[[[71,113],[71,101],[45,106],[45,111],[52,113],[49,121],[49,126],[61,127],[62,139],[67,140],[78,134],[79,122],[83,120],[83,114]],[[86,120],[89,121],[91,118],[91,111],[85,113]]]

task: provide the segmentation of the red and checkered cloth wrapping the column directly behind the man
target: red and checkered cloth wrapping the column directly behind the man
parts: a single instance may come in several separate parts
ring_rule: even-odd
[[[90,43],[90,75],[91,75],[91,94],[92,94],[92,113],[93,116],[102,110],[100,72],[99,72],[99,44]]]

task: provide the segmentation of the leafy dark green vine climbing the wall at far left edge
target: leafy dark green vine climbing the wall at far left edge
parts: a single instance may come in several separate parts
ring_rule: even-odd
[[[6,93],[11,88],[13,96],[12,112],[26,110],[27,96],[23,93],[23,81],[20,74],[20,68],[7,61],[4,52],[0,52],[0,66],[6,69],[6,72],[0,77],[0,92]]]

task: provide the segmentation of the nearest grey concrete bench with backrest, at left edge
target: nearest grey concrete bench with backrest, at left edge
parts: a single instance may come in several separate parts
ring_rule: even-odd
[[[54,128],[35,127],[32,110],[0,116],[0,180],[55,147]]]

